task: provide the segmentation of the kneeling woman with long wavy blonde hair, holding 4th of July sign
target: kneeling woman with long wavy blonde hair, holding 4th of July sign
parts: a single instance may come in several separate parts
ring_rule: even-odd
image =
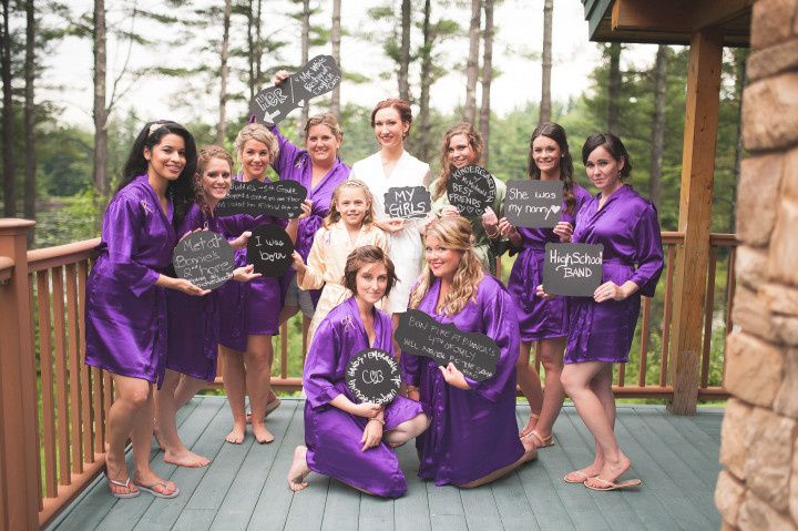
[[[492,377],[475,381],[454,364],[438,367],[429,358],[402,354],[402,376],[418,388],[431,418],[417,440],[419,477],[436,484],[471,488],[509,473],[538,455],[519,440],[515,421],[515,360],[519,324],[510,295],[482,272],[473,252],[471,225],[441,217],[424,235],[427,270],[410,295],[410,308],[461,331],[484,334],[501,351]]]

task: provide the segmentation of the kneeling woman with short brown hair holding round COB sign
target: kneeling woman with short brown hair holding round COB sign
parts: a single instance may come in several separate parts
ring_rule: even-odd
[[[345,380],[349,359],[366,348],[391,353],[390,317],[375,308],[397,277],[379,247],[365,245],[347,257],[344,284],[355,296],[327,314],[305,362],[305,443],[294,451],[288,487],[307,487],[310,471],[385,498],[407,492],[407,480],[391,449],[429,425],[421,405],[397,397],[387,407],[356,404]]]

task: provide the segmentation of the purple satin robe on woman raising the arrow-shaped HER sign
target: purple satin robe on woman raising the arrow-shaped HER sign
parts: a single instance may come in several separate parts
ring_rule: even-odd
[[[297,227],[297,241],[295,244],[296,252],[307,262],[308,253],[310,253],[310,246],[313,245],[313,238],[316,235],[316,231],[321,227],[324,218],[327,217],[330,207],[330,200],[332,198],[332,192],[335,188],[349,178],[349,166],[344,164],[340,159],[336,159],[332,163],[332,167],[327,174],[321,177],[316,184],[316,187],[311,186],[313,183],[313,164],[310,161],[310,154],[307,150],[303,150],[295,145],[291,141],[283,136],[279,129],[275,125],[272,127],[272,132],[277,137],[279,143],[279,155],[275,160],[272,167],[274,167],[280,181],[296,181],[297,183],[305,186],[308,191],[307,198],[313,201],[313,207],[310,215],[299,221]],[[288,285],[296,275],[293,268],[289,268],[286,274],[280,278],[280,285],[283,293],[288,289]],[[310,298],[313,299],[314,306],[318,304],[318,299],[321,296],[320,289],[311,289]]]

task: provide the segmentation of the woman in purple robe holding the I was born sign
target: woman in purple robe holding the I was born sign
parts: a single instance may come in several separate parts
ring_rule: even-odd
[[[224,233],[218,217],[214,215],[216,204],[231,188],[233,157],[218,145],[208,145],[200,151],[194,196],[185,218],[177,222],[177,236],[193,231]],[[244,247],[249,239],[246,232],[231,241],[234,249]],[[233,280],[248,282],[260,275],[253,273],[252,265],[233,270]],[[218,351],[218,292],[212,290],[203,297],[190,297],[181,292],[166,294],[168,313],[168,348],[166,351],[166,375],[163,386],[155,391],[155,420],[157,439],[164,449],[164,461],[181,467],[204,467],[209,459],[188,450],[177,433],[175,415],[198,390],[207,387],[216,377]]]

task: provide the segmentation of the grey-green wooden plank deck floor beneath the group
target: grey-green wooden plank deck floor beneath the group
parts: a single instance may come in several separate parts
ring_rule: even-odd
[[[713,503],[723,418],[718,408],[699,409],[698,416],[686,418],[658,406],[618,406],[621,446],[634,461],[627,477],[643,480],[637,491],[594,492],[562,481],[591,457],[590,435],[574,408],[566,406],[554,429],[554,447],[541,450],[538,461],[516,473],[474,490],[421,481],[416,477],[413,445],[406,445],[399,456],[409,491],[390,501],[318,474],[310,474],[305,491],[291,494],[285,476],[294,448],[303,442],[303,407],[300,400],[284,400],[269,417],[274,443],[259,446],[248,436],[235,446],[223,439],[231,425],[224,398],[196,397],[180,412],[181,433],[213,463],[176,468],[153,451],[155,471],[180,486],[177,498],[142,493],[117,501],[101,477],[50,529],[694,531],[720,524]],[[520,405],[519,423],[528,413]]]

